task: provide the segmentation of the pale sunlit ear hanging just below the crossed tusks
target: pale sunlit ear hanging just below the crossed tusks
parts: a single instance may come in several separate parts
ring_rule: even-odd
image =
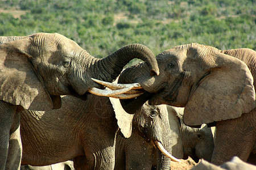
[[[129,114],[125,112],[125,110],[122,108],[122,105],[120,103],[119,99],[115,99],[112,97],[109,97],[110,102],[113,105],[114,112],[115,112],[115,118],[117,118],[117,125],[121,130],[121,133],[125,138],[131,137],[131,132],[133,131],[132,124],[133,124],[133,116],[134,114]]]

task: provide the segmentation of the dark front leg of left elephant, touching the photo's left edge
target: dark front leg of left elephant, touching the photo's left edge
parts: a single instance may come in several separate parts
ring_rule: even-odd
[[[0,100],[0,170],[6,168],[9,135],[16,106]]]

